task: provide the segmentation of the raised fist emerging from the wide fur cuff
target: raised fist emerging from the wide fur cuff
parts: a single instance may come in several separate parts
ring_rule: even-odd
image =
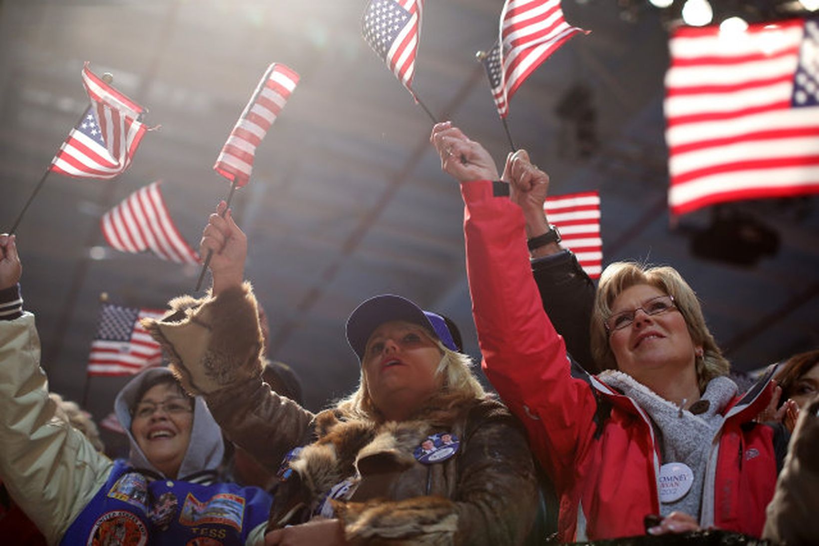
[[[231,210],[225,213],[224,218],[221,216],[227,206],[226,202],[219,202],[216,212],[210,215],[208,224],[202,231],[199,243],[199,253],[202,255],[213,251],[210,271],[213,273],[214,295],[242,284],[245,275],[247,236],[233,221]]]

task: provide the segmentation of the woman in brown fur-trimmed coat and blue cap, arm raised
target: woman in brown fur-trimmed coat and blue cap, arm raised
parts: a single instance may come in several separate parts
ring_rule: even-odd
[[[210,216],[201,250],[212,292],[147,326],[229,438],[278,469],[267,544],[523,542],[537,505],[525,433],[441,316],[395,295],[362,303],[346,324],[359,387],[314,414],[261,380],[247,239],[229,211]]]

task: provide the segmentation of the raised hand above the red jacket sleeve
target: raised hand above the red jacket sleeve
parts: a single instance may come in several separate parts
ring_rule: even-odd
[[[429,141],[441,156],[441,170],[455,180],[498,180],[498,168],[486,148],[468,139],[451,121],[435,124]]]

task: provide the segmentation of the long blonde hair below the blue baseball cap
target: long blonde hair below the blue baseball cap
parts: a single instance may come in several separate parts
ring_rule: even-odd
[[[414,323],[410,324],[415,325]],[[438,363],[435,370],[435,375],[443,375],[440,394],[450,398],[451,403],[485,397],[486,391],[472,373],[472,358],[464,353],[458,353],[447,348],[428,328],[422,326],[422,330],[441,351],[441,362]],[[346,398],[339,400],[336,407],[347,414],[373,420],[382,419],[381,412],[378,411],[378,407],[375,407],[373,399],[370,398],[364,366],[361,366],[358,388]]]

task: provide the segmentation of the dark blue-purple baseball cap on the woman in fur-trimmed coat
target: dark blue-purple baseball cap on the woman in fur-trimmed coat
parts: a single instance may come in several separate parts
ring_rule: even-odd
[[[437,313],[424,311],[407,298],[385,293],[364,300],[355,307],[347,319],[347,343],[358,355],[359,361],[364,359],[364,349],[367,347],[369,336],[378,326],[389,321],[407,321],[421,325],[432,331],[446,348],[460,350],[454,339],[454,337],[460,339],[460,332],[455,329],[456,333],[453,336],[449,326],[455,326],[452,321],[447,321],[446,317]]]

